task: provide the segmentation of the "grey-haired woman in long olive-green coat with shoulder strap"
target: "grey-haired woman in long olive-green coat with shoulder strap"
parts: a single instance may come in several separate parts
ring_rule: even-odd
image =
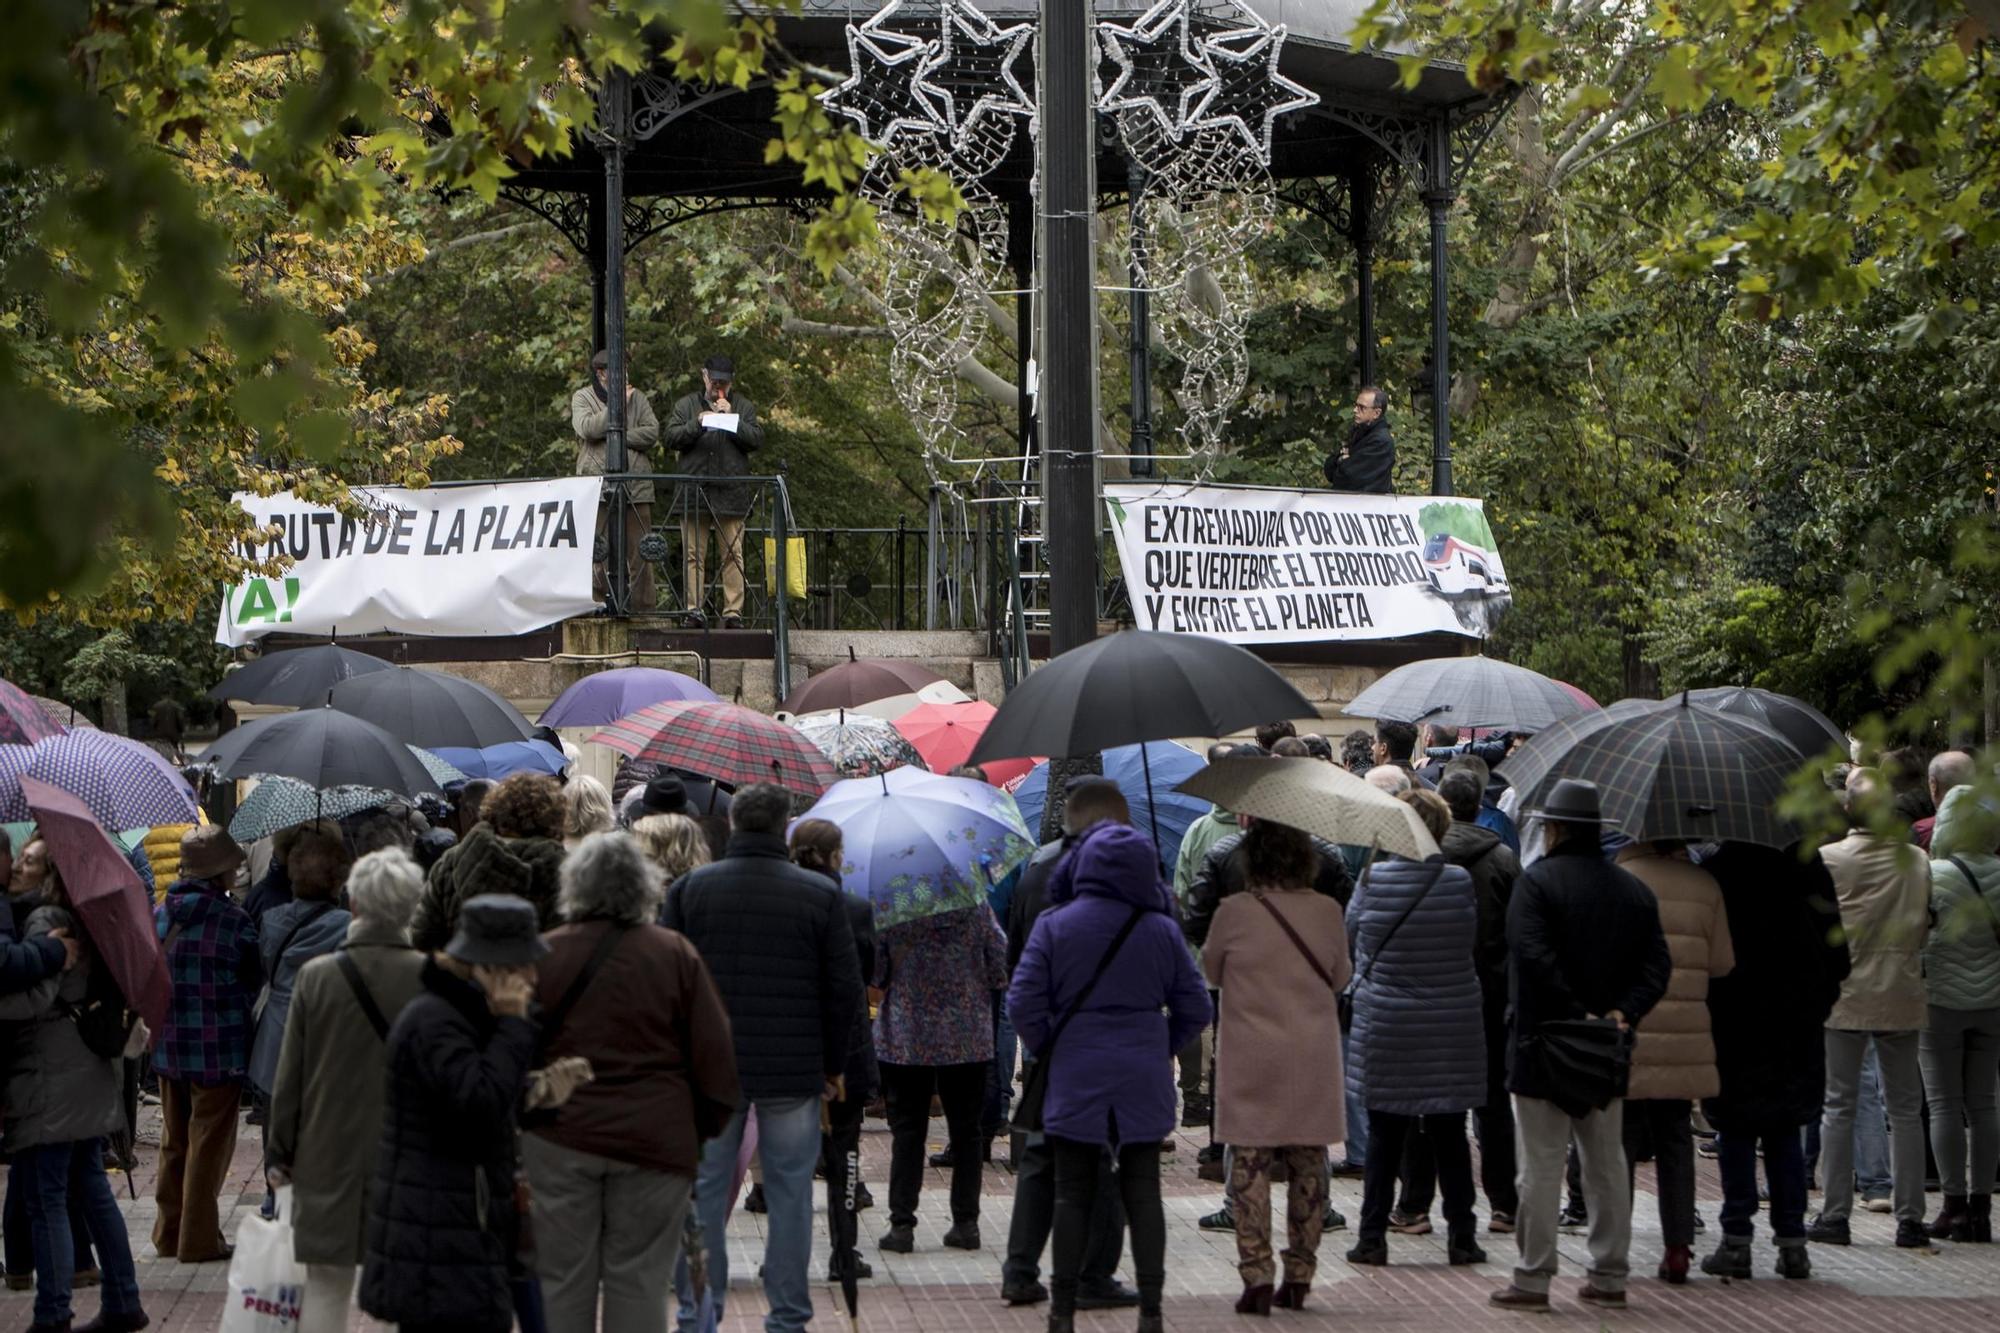
[[[306,963],[292,991],[264,1145],[270,1183],[292,1185],[292,1253],[306,1265],[300,1333],[348,1327],[382,1143],[384,1037],[424,989],[424,955],[410,947],[422,893],[424,877],[400,849],[356,861],[348,939]]]

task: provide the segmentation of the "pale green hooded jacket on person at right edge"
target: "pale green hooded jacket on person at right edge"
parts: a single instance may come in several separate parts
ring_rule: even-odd
[[[1930,935],[1924,987],[1938,1009],[2000,1009],[2000,815],[1954,787],[1930,833]],[[1952,865],[1958,857],[1972,883]]]

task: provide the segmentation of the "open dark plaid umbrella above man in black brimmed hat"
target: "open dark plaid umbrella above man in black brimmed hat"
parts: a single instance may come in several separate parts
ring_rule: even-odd
[[[1632,839],[1790,847],[1798,831],[1776,805],[1800,763],[1762,723],[1682,695],[1566,717],[1514,751],[1500,777],[1528,813],[1558,779],[1596,783],[1606,823]]]

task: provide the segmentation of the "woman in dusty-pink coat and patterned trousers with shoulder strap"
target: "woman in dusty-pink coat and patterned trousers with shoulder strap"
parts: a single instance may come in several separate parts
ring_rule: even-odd
[[[1244,1279],[1236,1311],[1300,1309],[1318,1269],[1326,1217],[1326,1147],[1346,1139],[1340,1007],[1348,935],[1340,903],[1314,893],[1312,839],[1254,823],[1246,887],[1222,901],[1202,971],[1222,991],[1216,1033],[1216,1137],[1232,1147],[1228,1207]],[[1270,1251],[1270,1171],[1290,1173],[1284,1285]]]

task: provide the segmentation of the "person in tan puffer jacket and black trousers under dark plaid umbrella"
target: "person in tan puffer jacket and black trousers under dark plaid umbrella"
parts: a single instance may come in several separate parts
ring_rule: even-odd
[[[1736,971],[1730,919],[1714,877],[1674,843],[1640,843],[1618,855],[1660,901],[1660,929],[1674,957],[1662,999],[1638,1029],[1632,1083],[1626,1089],[1626,1179],[1652,1157],[1658,1175],[1660,1233],[1666,1255],[1660,1281],[1688,1281],[1694,1253],[1694,1127],[1690,1113],[1716,1097],[1716,1043],[1708,1029],[1708,981]]]

